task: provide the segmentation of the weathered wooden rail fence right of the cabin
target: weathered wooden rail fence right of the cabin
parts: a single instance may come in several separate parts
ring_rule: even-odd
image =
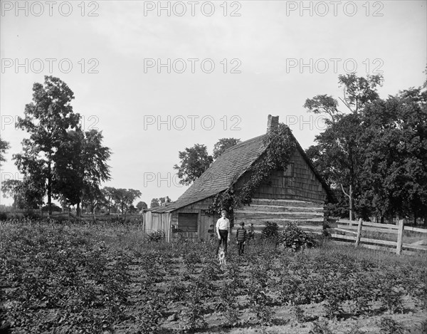
[[[325,229],[337,242],[354,241],[355,246],[395,251],[398,255],[427,251],[427,229],[404,226],[403,220],[393,225],[340,219],[328,223]]]

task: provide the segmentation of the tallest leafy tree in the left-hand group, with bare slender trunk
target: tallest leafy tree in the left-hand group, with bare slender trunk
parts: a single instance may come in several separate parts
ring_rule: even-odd
[[[46,75],[44,85],[34,83],[33,102],[26,105],[25,117],[17,122],[17,126],[26,130],[30,137],[22,141],[23,153],[14,155],[16,165],[24,175],[31,172],[28,165],[38,165],[40,170],[37,174],[46,184],[48,207],[51,207],[53,196],[56,154],[67,136],[67,130],[77,128],[80,120],[80,115],[73,113],[70,105],[73,98],[73,91],[68,85],[59,78]],[[33,175],[29,174],[28,177],[33,178]],[[48,214],[52,214],[51,209]]]

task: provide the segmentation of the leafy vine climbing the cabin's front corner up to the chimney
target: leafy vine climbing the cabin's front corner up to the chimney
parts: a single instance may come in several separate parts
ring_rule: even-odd
[[[268,179],[271,172],[287,168],[295,150],[295,142],[292,140],[289,127],[280,123],[265,136],[264,145],[267,145],[267,149],[263,155],[246,171],[249,179],[238,189],[235,189],[237,179],[233,179],[228,189],[216,194],[206,214],[211,216],[220,213],[221,210],[233,214],[242,204],[251,203],[256,189]]]

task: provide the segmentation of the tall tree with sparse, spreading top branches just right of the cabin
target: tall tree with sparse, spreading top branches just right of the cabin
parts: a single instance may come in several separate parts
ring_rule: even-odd
[[[360,110],[379,99],[376,92],[382,85],[381,75],[339,75],[339,86],[343,88],[342,103],[352,112],[342,113],[338,101],[332,96],[317,95],[305,101],[307,111],[326,114],[327,129],[316,136],[317,145],[309,147],[307,155],[317,170],[333,187],[339,187],[348,198],[349,219],[354,219],[354,196],[359,189],[359,171],[362,152],[359,150],[359,135],[362,130]]]

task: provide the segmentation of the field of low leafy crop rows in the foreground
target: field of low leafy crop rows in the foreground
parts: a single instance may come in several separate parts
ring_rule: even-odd
[[[427,333],[426,256],[0,222],[0,333]]]

